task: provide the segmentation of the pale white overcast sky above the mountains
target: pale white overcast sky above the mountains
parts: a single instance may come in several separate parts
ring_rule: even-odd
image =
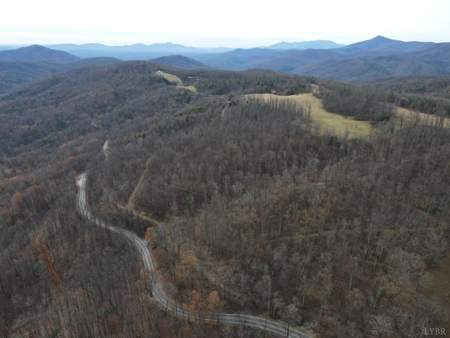
[[[0,46],[100,42],[255,47],[377,35],[450,41],[450,0],[3,1]]]

